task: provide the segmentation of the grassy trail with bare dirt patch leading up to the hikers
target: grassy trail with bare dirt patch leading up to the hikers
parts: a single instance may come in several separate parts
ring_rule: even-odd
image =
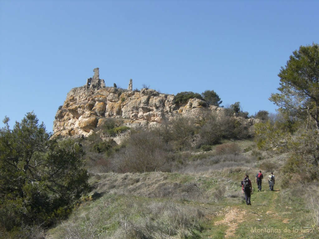
[[[276,185],[277,186],[277,185]],[[251,206],[241,203],[228,203],[218,216],[208,223],[204,236],[207,238],[319,238],[312,228],[299,225],[298,212],[280,204],[280,188],[257,192],[253,185]],[[299,212],[300,213],[300,212]]]

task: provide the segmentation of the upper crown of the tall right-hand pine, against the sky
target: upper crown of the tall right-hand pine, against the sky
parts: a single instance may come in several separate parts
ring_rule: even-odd
[[[286,117],[306,120],[319,129],[319,46],[300,46],[281,67],[280,93],[269,98]]]

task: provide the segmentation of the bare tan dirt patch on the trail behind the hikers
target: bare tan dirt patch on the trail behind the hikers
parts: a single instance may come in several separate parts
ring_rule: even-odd
[[[244,221],[246,210],[238,209],[237,207],[228,207],[226,210],[225,218],[215,222],[215,225],[227,225],[225,231],[225,238],[231,238],[235,235],[238,224]]]

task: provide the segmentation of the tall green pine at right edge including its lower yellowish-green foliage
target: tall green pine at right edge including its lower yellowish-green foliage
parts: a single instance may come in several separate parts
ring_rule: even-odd
[[[277,120],[255,125],[257,146],[291,153],[285,171],[319,179],[319,46],[300,46],[281,67],[280,93],[269,98],[279,106]]]

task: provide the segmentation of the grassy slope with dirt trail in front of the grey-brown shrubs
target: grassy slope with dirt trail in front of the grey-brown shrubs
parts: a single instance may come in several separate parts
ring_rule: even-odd
[[[247,148],[246,144],[241,146]],[[180,221],[189,218],[200,225],[193,230],[197,238],[319,238],[311,229],[306,231],[311,211],[300,203],[298,195],[287,200],[287,191],[278,183],[279,173],[275,173],[276,191],[270,192],[264,179],[263,191],[257,192],[255,172],[263,170],[263,165],[279,165],[279,161],[278,157],[267,158],[227,168],[220,161],[205,166],[206,171],[200,168],[185,173],[95,174],[91,178],[95,194],[84,199],[68,221],[50,229],[46,238],[120,238],[117,235],[123,235],[125,225],[131,234],[136,228],[157,227],[157,231],[169,235],[157,238],[182,238],[181,234],[173,235],[173,229],[167,231],[173,228],[170,218],[174,217]],[[193,163],[199,168],[198,162]],[[253,183],[251,206],[245,204],[241,194],[240,181],[245,172],[251,174]],[[269,172],[263,173],[267,177]]]

